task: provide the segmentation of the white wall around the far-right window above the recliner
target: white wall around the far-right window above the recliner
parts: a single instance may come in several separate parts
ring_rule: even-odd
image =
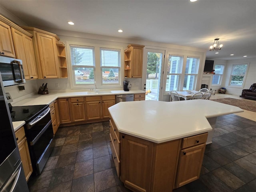
[[[249,63],[244,86],[242,88],[234,88],[232,86],[229,86],[228,84],[233,64],[244,63]],[[244,58],[227,61],[226,70],[224,70],[224,78],[222,80],[222,87],[225,87],[227,89],[227,94],[241,95],[242,90],[249,89],[253,83],[256,83],[256,58]]]

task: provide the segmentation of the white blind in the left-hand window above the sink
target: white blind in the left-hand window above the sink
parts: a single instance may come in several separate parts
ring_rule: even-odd
[[[93,47],[70,46],[72,66],[95,66]]]

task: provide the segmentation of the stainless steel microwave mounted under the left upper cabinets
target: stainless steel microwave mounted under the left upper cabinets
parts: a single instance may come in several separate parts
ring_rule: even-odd
[[[4,87],[26,83],[20,59],[0,56],[0,72]]]

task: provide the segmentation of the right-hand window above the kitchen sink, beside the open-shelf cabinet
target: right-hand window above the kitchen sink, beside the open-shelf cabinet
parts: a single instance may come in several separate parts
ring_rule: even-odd
[[[100,48],[102,84],[119,84],[120,66],[120,50]]]

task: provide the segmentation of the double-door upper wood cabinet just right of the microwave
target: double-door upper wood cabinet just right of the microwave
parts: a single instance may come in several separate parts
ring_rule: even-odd
[[[32,38],[12,28],[16,58],[22,60],[25,79],[37,79],[36,60]]]

